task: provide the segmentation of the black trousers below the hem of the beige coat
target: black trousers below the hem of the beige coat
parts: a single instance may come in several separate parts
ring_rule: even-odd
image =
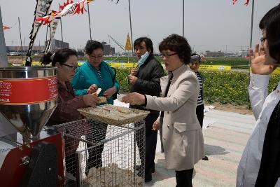
[[[193,169],[176,172],[176,187],[193,187]]]

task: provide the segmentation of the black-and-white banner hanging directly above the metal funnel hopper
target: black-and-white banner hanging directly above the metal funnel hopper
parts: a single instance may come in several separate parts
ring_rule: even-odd
[[[38,33],[38,29],[41,27],[41,22],[35,22],[39,17],[43,17],[48,15],[48,10],[50,9],[50,5],[52,4],[52,0],[37,0],[37,5],[34,12],[34,22],[32,25],[32,30],[30,32],[30,43],[29,49],[27,51],[27,61],[31,61],[31,50],[34,45],[34,41],[36,39],[36,35]]]

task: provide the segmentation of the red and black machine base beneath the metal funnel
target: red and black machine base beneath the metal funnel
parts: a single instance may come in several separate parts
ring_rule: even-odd
[[[0,169],[3,186],[64,186],[62,134],[13,148]]]

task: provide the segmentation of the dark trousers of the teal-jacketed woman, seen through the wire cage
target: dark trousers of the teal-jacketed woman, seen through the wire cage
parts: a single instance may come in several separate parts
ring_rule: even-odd
[[[100,141],[106,138],[106,132],[108,124],[106,123],[98,123],[91,125],[99,125],[99,127],[90,127],[90,133],[85,136],[87,141],[91,141],[92,144],[87,144],[87,148],[94,146],[94,144],[99,144]],[[87,158],[87,167],[86,174],[88,170],[92,167],[102,167],[102,152],[104,149],[104,144],[100,144],[99,146],[94,146],[88,149],[88,158]]]

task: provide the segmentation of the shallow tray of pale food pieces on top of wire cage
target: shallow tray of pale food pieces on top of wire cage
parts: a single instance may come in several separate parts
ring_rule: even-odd
[[[114,106],[111,104],[78,109],[78,111],[86,118],[99,120],[100,122],[109,123],[111,125],[136,123],[140,120],[144,120],[144,118],[148,116],[148,113],[150,113],[149,111],[130,109],[123,106]]]

